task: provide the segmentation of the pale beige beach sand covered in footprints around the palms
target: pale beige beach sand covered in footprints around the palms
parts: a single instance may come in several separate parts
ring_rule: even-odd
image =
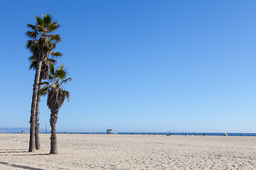
[[[58,134],[59,154],[0,134],[0,169],[256,169],[256,137]]]

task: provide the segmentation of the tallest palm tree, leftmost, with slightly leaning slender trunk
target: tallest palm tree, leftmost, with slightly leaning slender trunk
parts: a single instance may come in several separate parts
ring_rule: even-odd
[[[28,152],[36,151],[35,145],[35,128],[36,128],[36,105],[38,96],[38,86],[40,81],[42,62],[46,60],[48,53],[51,52],[55,45],[61,41],[60,35],[53,32],[60,27],[57,21],[52,21],[49,14],[44,14],[43,18],[36,16],[36,25],[27,24],[29,30],[26,35],[28,40],[26,47],[32,52],[36,62],[36,74],[33,83],[33,96],[31,103],[31,128]]]

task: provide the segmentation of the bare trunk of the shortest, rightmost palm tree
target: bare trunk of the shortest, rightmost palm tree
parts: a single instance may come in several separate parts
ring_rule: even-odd
[[[58,119],[58,110],[50,110],[50,154],[58,154],[56,123]]]

